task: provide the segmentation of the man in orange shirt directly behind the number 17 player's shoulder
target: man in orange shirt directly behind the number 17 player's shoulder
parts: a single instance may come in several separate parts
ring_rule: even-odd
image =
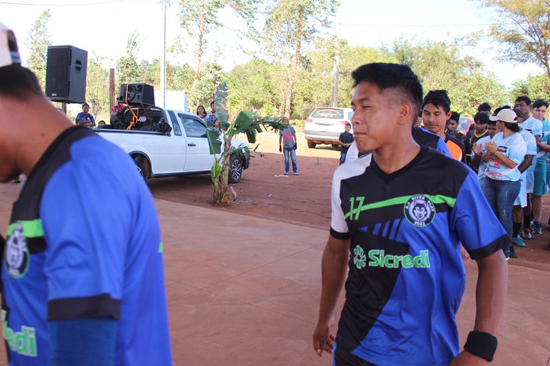
[[[465,163],[464,144],[445,133],[445,124],[451,117],[451,100],[445,90],[430,90],[422,102],[422,121],[426,130],[445,140],[451,157]]]

